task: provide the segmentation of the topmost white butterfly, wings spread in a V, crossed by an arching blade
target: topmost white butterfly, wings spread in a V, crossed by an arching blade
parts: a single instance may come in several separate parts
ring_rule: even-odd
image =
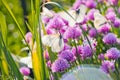
[[[64,19],[68,20],[70,26],[73,26],[75,23],[80,23],[84,20],[86,11],[87,11],[87,7],[85,5],[81,4],[77,11],[76,10],[68,10],[67,11],[74,19],[72,19],[65,12],[60,12],[58,14],[61,17],[63,17]]]

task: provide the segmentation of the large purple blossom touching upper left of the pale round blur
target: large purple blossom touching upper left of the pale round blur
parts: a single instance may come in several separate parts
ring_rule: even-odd
[[[62,72],[69,68],[70,65],[66,59],[58,58],[55,60],[55,62],[52,64],[52,72]]]

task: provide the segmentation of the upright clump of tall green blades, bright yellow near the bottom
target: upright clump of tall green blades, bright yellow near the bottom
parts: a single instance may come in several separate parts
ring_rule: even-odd
[[[39,21],[40,17],[40,0],[35,0],[35,5],[33,4],[33,0],[31,0],[31,26],[33,29],[33,41],[36,41],[36,51],[32,53],[32,59],[37,59],[36,64],[39,64],[40,67],[37,67],[35,63],[33,63],[34,75],[36,80],[46,80],[46,66],[43,58],[43,48],[41,44],[41,23]],[[38,27],[39,26],[39,27]],[[38,30],[39,29],[39,30]],[[37,34],[36,34],[37,32]],[[37,54],[36,54],[37,53]],[[37,57],[35,57],[37,55]],[[40,68],[40,69],[39,69]],[[37,70],[37,71],[35,71]]]

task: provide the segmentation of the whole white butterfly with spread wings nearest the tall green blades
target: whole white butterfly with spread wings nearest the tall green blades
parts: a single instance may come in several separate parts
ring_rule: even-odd
[[[64,47],[64,41],[60,34],[45,35],[42,37],[42,43],[51,47],[53,52],[60,52]]]

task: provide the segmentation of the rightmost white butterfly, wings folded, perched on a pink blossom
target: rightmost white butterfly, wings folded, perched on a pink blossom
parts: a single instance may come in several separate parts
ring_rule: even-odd
[[[108,21],[103,15],[101,15],[99,12],[94,13],[94,26],[96,29],[98,29],[100,26],[102,26],[106,22]]]

